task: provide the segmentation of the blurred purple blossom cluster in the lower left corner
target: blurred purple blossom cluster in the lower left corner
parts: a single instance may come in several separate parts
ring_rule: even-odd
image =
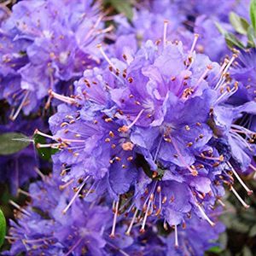
[[[12,246],[6,254],[104,255],[107,241],[103,233],[111,217],[108,207],[79,200],[64,214],[72,194],[72,189],[62,187],[55,178],[44,177],[43,182],[33,183],[26,194],[32,203],[21,208],[17,223],[10,223]]]

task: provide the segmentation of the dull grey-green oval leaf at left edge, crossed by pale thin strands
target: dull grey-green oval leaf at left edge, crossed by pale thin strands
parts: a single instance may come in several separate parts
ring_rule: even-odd
[[[22,133],[8,132],[0,135],[0,154],[8,155],[19,152],[30,143],[30,138]]]

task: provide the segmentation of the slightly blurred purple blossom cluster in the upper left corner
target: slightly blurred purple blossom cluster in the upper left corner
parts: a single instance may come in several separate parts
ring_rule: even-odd
[[[72,91],[84,69],[96,66],[104,28],[93,1],[21,1],[1,24],[0,96],[15,119],[38,109],[50,89]],[[48,107],[47,102],[46,107]]]

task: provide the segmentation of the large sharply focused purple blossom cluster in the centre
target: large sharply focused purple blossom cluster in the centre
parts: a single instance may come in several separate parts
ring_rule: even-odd
[[[148,41],[123,60],[109,59],[99,45],[108,67],[85,71],[72,98],[56,95],[66,103],[49,119],[53,135],[37,131],[60,149],[54,172],[63,181],[76,184],[85,198],[84,187],[112,198],[111,236],[120,209],[135,211],[128,235],[138,212],[141,232],[147,218],[177,229],[188,214],[214,226],[207,212],[222,204],[224,184],[248,207],[232,175],[251,195],[237,172],[252,167],[254,133],[236,122],[254,114],[256,104],[230,106],[239,84],[227,71],[236,54],[219,66],[195,53],[197,38],[189,51],[181,42]]]

